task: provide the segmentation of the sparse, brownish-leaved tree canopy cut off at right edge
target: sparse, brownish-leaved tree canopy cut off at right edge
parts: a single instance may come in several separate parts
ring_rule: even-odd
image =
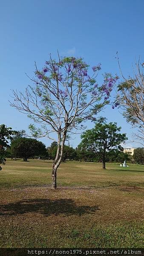
[[[119,63],[119,62],[118,62]],[[133,134],[134,140],[144,145],[144,73],[140,61],[133,68],[133,77],[128,79],[123,76],[124,81],[118,85],[118,95],[115,104],[120,105],[123,116],[127,122],[137,128]],[[118,103],[117,103],[118,102]]]

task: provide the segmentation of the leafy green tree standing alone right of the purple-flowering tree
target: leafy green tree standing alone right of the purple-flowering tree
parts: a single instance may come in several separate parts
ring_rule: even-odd
[[[100,156],[103,169],[106,168],[106,154],[112,149],[123,150],[121,143],[127,140],[126,134],[120,134],[121,127],[117,123],[106,123],[105,118],[100,118],[95,124],[95,128],[85,131],[82,135],[81,147],[95,152]]]

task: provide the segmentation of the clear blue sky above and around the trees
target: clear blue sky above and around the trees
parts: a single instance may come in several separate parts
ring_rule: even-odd
[[[90,65],[102,64],[102,72],[120,74],[119,53],[125,76],[132,74],[138,57],[144,62],[143,0],[1,0],[0,1],[0,123],[28,131],[32,121],[9,105],[12,89],[24,91],[49,53],[83,57]],[[131,141],[132,128],[118,109],[102,113],[118,122]],[[88,124],[88,128],[92,128]],[[43,138],[46,145],[52,141]],[[70,143],[75,147],[79,136]],[[140,146],[129,142],[128,146]]]

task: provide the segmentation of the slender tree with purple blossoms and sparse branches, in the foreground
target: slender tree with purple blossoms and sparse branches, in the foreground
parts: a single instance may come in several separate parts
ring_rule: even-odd
[[[60,58],[59,55],[58,61],[50,55],[42,70],[36,64],[35,68],[35,77],[31,78],[35,86],[27,87],[25,93],[13,91],[12,106],[40,124],[38,128],[33,124],[29,126],[34,137],[53,139],[53,134],[57,134],[58,148],[52,166],[52,188],[55,189],[66,136],[84,129],[82,122],[95,121],[95,115],[109,103],[117,76],[105,74],[103,83],[98,85],[96,78],[101,64],[93,66],[89,76],[89,65],[82,58]]]

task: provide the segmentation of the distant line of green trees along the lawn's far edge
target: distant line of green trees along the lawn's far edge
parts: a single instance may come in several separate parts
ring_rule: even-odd
[[[116,123],[106,123],[106,119],[100,118],[95,123],[95,128],[83,132],[81,143],[73,148],[64,145],[62,161],[96,162],[102,163],[129,163],[144,164],[144,148],[136,148],[133,156],[124,153],[121,143],[127,140],[126,134],[120,133],[121,127]],[[10,138],[10,137],[9,137]],[[26,137],[26,131],[17,131],[11,137],[11,144],[4,151],[7,158],[23,158],[23,161],[40,158],[43,160],[54,160],[57,154],[58,143],[53,142],[48,148],[36,140]],[[2,163],[2,162],[1,162]]]

